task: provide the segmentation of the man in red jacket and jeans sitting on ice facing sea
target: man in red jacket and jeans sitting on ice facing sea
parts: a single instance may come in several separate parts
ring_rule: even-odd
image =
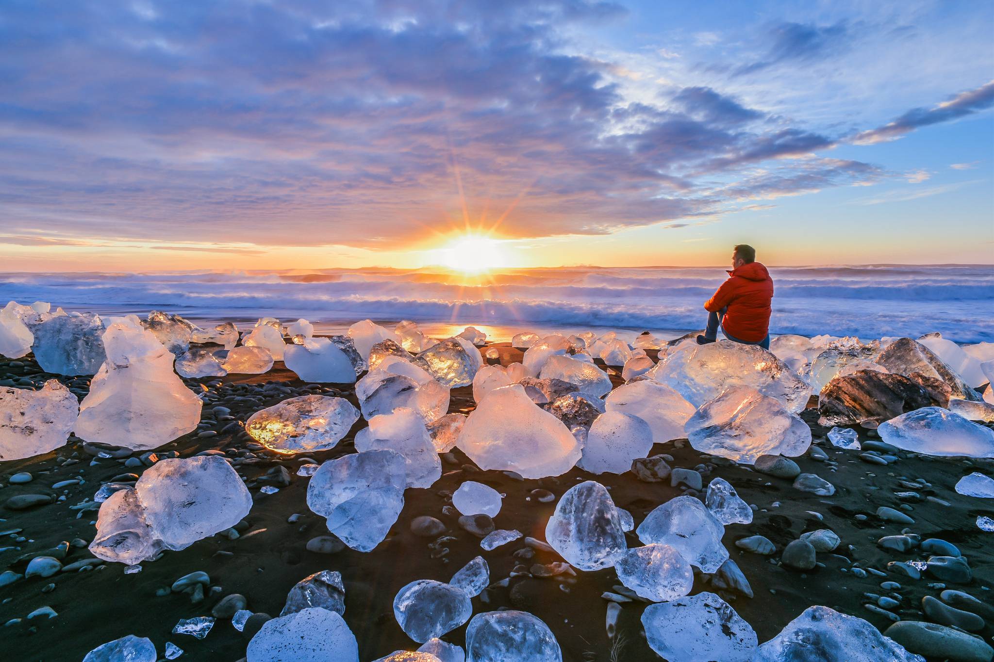
[[[714,342],[721,325],[730,340],[769,349],[772,298],[773,279],[766,267],[755,261],[754,248],[739,244],[732,253],[729,280],[704,305],[704,310],[710,313],[708,329],[704,335],[697,336],[698,344]]]

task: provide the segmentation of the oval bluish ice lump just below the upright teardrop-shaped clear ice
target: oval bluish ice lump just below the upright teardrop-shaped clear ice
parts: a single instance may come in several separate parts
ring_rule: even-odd
[[[614,571],[621,584],[654,602],[686,596],[694,588],[690,564],[669,545],[630,549],[614,563]]]

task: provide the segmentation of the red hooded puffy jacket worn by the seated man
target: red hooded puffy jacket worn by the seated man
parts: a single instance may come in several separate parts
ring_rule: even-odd
[[[766,267],[750,262],[730,271],[729,280],[722,283],[704,308],[709,313],[717,313],[728,307],[722,328],[740,340],[758,342],[769,333],[772,298],[773,279]]]

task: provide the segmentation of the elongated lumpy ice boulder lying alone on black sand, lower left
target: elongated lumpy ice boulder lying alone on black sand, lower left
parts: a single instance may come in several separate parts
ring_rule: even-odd
[[[100,504],[89,551],[134,565],[231,528],[249,509],[248,488],[225,459],[160,460]]]

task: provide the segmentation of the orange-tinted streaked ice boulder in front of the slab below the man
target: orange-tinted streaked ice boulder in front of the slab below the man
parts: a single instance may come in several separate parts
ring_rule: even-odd
[[[745,464],[759,456],[796,457],[811,446],[811,428],[799,416],[748,386],[701,405],[685,431],[695,450]]]

